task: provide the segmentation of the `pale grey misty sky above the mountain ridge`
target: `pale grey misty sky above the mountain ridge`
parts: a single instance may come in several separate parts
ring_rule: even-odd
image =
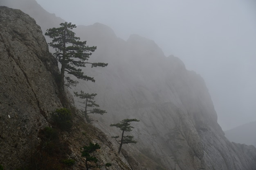
[[[100,22],[124,40],[152,39],[209,89],[223,130],[256,120],[254,0],[36,0],[76,25]]]

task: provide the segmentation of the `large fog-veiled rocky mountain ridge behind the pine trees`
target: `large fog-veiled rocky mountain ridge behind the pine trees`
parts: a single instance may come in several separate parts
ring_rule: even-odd
[[[119,39],[99,23],[74,31],[89,46],[97,46],[92,60],[109,63],[107,68],[85,68],[96,83],[81,82],[72,89],[98,93],[96,100],[108,113],[93,116],[95,126],[110,137],[120,132],[109,124],[124,118],[141,120],[131,133],[138,143],[125,146],[125,155],[134,155],[153,170],[256,169],[256,149],[226,139],[203,79],[186,70],[177,57],[165,57],[153,41],[138,35]]]

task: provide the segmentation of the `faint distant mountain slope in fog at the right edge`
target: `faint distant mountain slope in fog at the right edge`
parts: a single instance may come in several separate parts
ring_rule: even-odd
[[[256,122],[250,122],[225,131],[225,136],[231,141],[256,147]]]

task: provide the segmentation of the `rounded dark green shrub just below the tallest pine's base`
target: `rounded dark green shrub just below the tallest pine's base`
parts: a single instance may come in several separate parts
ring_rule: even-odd
[[[58,126],[61,130],[70,130],[72,127],[71,111],[66,108],[56,109],[52,115],[53,124]]]

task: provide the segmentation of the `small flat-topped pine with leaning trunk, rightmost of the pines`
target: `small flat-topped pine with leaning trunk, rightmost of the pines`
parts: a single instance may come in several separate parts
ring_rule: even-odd
[[[117,143],[119,144],[119,149],[118,149],[119,154],[120,154],[123,144],[130,144],[130,143],[136,144],[137,143],[137,141],[132,140],[133,136],[130,136],[130,135],[124,136],[124,132],[132,131],[132,128],[134,128],[134,127],[130,126],[130,122],[139,122],[139,120],[124,119],[120,123],[110,124],[110,126],[116,126],[117,128],[119,128],[122,131],[121,140],[117,141],[117,138],[119,138],[119,136],[112,136],[112,138],[115,138]]]

